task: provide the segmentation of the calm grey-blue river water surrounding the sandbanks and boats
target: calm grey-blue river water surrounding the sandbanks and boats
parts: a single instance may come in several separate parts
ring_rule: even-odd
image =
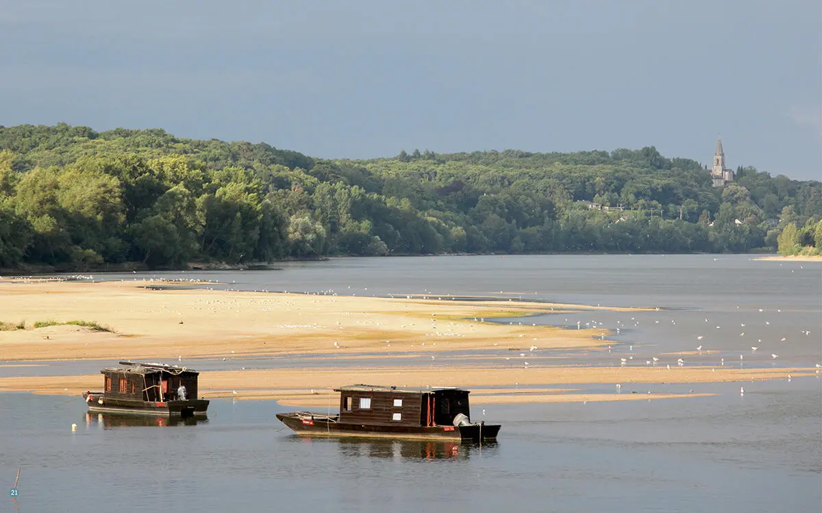
[[[618,365],[624,355],[635,357],[629,365],[644,365],[650,355],[670,359],[667,352],[693,351],[698,344],[718,353],[686,356],[688,365],[717,367],[723,358],[737,367],[822,361],[819,263],[709,255],[350,258],[289,263],[281,270],[163,275],[220,280],[233,289],[495,295],[662,308],[529,319],[620,328],[610,352],[538,350],[529,354],[534,366]],[[450,354],[436,363],[398,358],[392,364],[447,370],[470,358]],[[302,367],[323,359],[201,361],[197,367]],[[478,362],[519,364],[498,360]],[[99,367],[0,367],[0,375]],[[482,447],[301,439],[275,419],[292,408],[271,401],[215,400],[205,422],[160,426],[150,425],[152,419],[87,415],[81,398],[0,394],[0,483],[5,479],[10,488],[17,466],[23,467],[21,497],[0,500],[0,511],[820,511],[822,380],[745,383],[745,395],[739,385],[622,389],[718,394],[709,398],[486,405],[487,421],[503,428],[497,444]],[[474,408],[474,416],[481,411]]]

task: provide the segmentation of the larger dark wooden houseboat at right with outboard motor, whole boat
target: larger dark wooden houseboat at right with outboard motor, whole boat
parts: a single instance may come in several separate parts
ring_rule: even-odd
[[[299,435],[392,437],[450,441],[496,440],[499,424],[472,423],[469,391],[353,385],[339,392],[339,414],[294,412],[277,418]]]

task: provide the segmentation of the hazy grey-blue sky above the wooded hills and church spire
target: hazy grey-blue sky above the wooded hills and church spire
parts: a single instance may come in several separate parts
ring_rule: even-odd
[[[25,0],[0,124],[265,141],[323,158],[656,146],[822,179],[822,4]]]

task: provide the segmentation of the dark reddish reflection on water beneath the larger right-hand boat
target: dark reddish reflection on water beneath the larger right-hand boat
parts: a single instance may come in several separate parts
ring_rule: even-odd
[[[319,439],[302,437],[303,441],[312,443]],[[432,440],[368,440],[363,438],[322,439],[331,441],[339,447],[339,453],[346,457],[382,458],[387,460],[423,459],[423,460],[465,460],[479,451],[497,451],[495,442],[486,442],[482,446],[459,441]]]

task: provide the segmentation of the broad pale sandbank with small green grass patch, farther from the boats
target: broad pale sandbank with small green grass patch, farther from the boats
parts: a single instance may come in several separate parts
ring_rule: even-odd
[[[48,326],[0,331],[0,361],[238,358],[471,349],[594,348],[611,333],[492,318],[585,310],[552,303],[367,298],[209,289],[151,282],[0,280],[0,321],[94,321],[111,329]],[[476,319],[476,321],[474,320]],[[483,321],[483,319],[485,321]]]

